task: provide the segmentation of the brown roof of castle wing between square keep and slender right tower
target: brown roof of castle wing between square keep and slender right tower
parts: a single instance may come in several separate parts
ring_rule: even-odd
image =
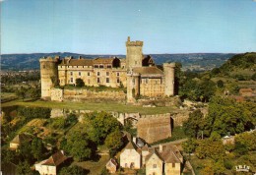
[[[134,68],[134,73],[140,74],[142,77],[162,77],[163,72],[156,66]]]

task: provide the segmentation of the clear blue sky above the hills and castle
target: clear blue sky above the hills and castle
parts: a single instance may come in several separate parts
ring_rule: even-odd
[[[1,53],[256,51],[256,0],[0,0]]]

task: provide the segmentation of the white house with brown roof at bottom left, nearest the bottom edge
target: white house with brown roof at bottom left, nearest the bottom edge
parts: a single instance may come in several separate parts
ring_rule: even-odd
[[[64,154],[64,151],[59,150],[48,159],[34,164],[35,170],[38,171],[40,175],[57,175],[60,165],[67,159],[68,157]]]

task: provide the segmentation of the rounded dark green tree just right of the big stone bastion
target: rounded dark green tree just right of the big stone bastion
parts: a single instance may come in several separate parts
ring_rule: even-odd
[[[204,114],[197,109],[189,114],[188,120],[183,123],[185,134],[191,138],[197,138],[199,131],[204,129]]]

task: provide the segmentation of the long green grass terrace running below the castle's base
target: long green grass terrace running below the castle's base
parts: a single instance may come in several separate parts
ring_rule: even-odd
[[[55,101],[22,101],[14,100],[1,104],[2,107],[21,105],[29,107],[49,107],[49,108],[61,108],[61,109],[72,109],[72,110],[92,110],[92,111],[107,111],[107,112],[126,112],[126,113],[137,113],[140,114],[163,114],[173,111],[173,107],[142,107],[130,104],[121,104],[115,102],[107,103],[96,103],[96,102],[55,102]]]

